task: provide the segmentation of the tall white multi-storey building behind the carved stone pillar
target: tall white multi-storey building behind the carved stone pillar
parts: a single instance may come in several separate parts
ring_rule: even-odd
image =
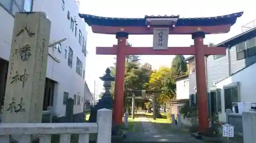
[[[79,2],[74,0],[0,1],[0,97],[3,98],[6,70],[10,56],[14,14],[17,11],[43,11],[51,21],[50,43],[63,38],[49,48],[44,110],[53,106],[58,117],[65,116],[66,100],[74,99],[74,114],[83,112],[83,102],[90,93],[84,80],[86,69],[86,24],[78,16]],[[90,96],[90,95],[88,95]],[[1,98],[0,98],[1,99]],[[1,100],[0,100],[1,101]]]

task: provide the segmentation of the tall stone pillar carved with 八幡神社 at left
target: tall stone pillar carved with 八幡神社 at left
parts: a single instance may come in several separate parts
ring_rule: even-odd
[[[16,13],[2,123],[41,123],[50,28],[44,12]]]

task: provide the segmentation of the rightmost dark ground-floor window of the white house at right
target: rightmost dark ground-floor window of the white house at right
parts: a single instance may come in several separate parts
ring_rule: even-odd
[[[232,103],[239,102],[238,87],[224,89],[225,111],[232,110]]]

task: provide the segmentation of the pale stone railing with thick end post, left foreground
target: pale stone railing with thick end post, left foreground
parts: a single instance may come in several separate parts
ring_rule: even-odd
[[[97,143],[111,143],[111,128],[112,110],[100,109],[97,123],[2,123],[0,142],[9,143],[14,136],[18,142],[31,142],[32,135],[39,135],[40,143],[50,143],[51,135],[59,134],[60,143],[70,143],[71,134],[79,134],[78,143],[87,143],[89,134],[97,134]]]

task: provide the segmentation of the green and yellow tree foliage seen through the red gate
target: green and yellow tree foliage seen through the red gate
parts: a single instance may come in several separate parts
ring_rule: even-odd
[[[127,45],[131,46],[130,43],[127,43]],[[139,58],[139,55],[126,56],[124,88],[127,90],[162,90],[157,96],[157,101],[160,104],[176,98],[175,78],[185,75],[187,72],[184,56],[176,55],[172,61],[172,67],[160,67],[154,71],[150,64],[141,64]],[[110,67],[111,75],[115,76],[116,63],[113,65],[113,67]],[[115,82],[112,82],[112,95],[114,95],[114,88]]]

